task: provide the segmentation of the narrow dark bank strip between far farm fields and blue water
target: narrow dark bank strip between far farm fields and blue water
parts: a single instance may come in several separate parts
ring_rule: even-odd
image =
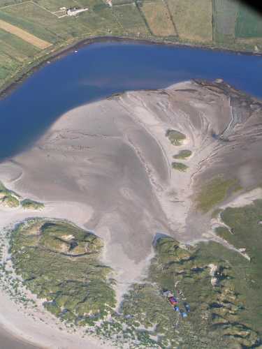
[[[252,52],[252,51],[240,51],[240,50],[231,50],[226,47],[219,47],[215,45],[194,45],[193,43],[180,43],[173,42],[168,40],[157,40],[157,39],[147,39],[147,38],[130,38],[126,36],[93,36],[89,38],[84,38],[76,41],[73,44],[66,45],[54,52],[51,52],[43,56],[39,61],[35,61],[32,66],[24,68],[24,71],[18,72],[10,82],[3,85],[3,88],[0,88],[0,102],[4,98],[8,97],[17,87],[19,87],[27,78],[31,77],[36,71],[43,68],[46,64],[57,61],[63,57],[68,56],[68,54],[73,53],[75,50],[79,50],[82,47],[87,47],[88,45],[96,43],[122,43],[122,44],[133,44],[133,45],[162,45],[167,47],[187,47],[196,50],[211,50],[218,52],[228,52],[232,54],[243,54],[247,56],[261,56],[262,52]]]

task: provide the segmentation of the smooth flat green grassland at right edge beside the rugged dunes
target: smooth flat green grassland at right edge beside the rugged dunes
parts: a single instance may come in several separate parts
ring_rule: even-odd
[[[250,262],[232,260],[238,274],[235,288],[246,304],[243,318],[262,334],[262,200],[244,207],[227,207],[220,216],[230,230],[217,228],[217,234],[250,258]]]

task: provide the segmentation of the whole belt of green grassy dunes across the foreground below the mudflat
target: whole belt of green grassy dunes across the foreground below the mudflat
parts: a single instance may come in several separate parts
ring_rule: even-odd
[[[29,220],[13,230],[10,252],[24,285],[44,299],[48,311],[117,346],[256,348],[262,328],[261,214],[261,200],[221,212],[234,232],[224,238],[246,246],[251,262],[216,242],[186,246],[168,236],[156,239],[147,276],[130,286],[118,311],[112,269],[99,261],[103,242],[91,232],[64,221]],[[180,311],[163,290],[174,293]],[[186,303],[190,312],[183,318]]]

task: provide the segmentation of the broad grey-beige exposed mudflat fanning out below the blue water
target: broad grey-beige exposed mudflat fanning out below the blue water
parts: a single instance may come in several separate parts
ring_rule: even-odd
[[[168,129],[186,135],[184,143],[171,144]],[[259,101],[223,82],[184,82],[71,110],[0,170],[23,195],[88,205],[85,227],[105,239],[105,262],[125,290],[143,274],[157,233],[207,237],[210,219],[194,203],[201,184],[217,174],[242,188],[260,184],[261,135]],[[192,151],[182,161],[187,172],[171,167],[181,149]],[[78,223],[70,212],[64,218]]]

